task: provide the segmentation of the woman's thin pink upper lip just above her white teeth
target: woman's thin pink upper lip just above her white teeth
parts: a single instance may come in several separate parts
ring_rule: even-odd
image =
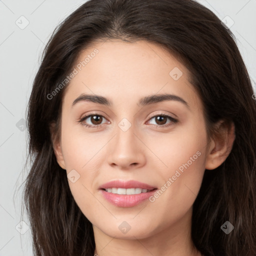
[[[146,183],[142,183],[142,182],[139,182],[137,180],[112,180],[112,181],[109,181],[109,182],[106,182],[102,185],[99,186],[99,189],[101,188],[104,188],[104,189],[107,189],[107,188],[112,188],[112,187],[120,187],[120,188],[136,188],[136,187],[139,187],[139,188],[142,188],[142,189],[148,189],[148,190],[151,190],[151,189],[154,189],[156,187],[154,186],[151,186],[151,185],[148,185]]]

